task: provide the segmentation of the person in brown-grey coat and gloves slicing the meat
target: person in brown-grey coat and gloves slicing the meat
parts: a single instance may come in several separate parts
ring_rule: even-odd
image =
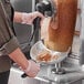
[[[13,34],[13,22],[32,24],[33,20],[43,14],[38,11],[25,13],[13,11],[9,0],[0,0],[0,83],[8,84],[11,60],[21,66],[22,71],[29,76],[36,76],[40,65],[28,60],[22,53],[19,42]]]

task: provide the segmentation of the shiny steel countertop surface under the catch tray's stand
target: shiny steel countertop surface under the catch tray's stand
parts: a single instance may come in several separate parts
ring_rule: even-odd
[[[67,71],[65,74],[54,74],[52,73],[52,69],[54,69],[54,64],[53,65],[48,65],[48,64],[41,65],[41,71],[34,78],[43,81],[48,84],[52,84],[52,83],[53,84],[56,84],[56,83],[57,84],[66,84],[66,83],[70,84],[75,81],[84,78],[84,72],[81,71],[80,66],[66,64],[65,66],[63,66],[63,69]],[[11,71],[12,72],[15,71],[17,73],[20,73],[21,75],[23,74],[23,72],[18,67],[12,66]],[[28,78],[28,77],[24,77],[24,78]]]

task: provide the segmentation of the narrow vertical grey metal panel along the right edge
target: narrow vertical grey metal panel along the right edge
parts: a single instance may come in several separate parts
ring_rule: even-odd
[[[80,63],[84,65],[84,0],[81,0],[81,19],[82,19],[82,29],[81,29],[81,49],[80,49]]]

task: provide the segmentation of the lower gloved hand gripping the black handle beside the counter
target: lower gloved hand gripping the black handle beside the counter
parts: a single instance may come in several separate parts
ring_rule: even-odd
[[[40,65],[32,60],[28,61],[27,70],[23,70],[29,77],[35,77],[40,71]]]

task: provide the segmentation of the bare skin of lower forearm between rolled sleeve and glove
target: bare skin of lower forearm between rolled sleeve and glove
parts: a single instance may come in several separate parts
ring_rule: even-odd
[[[29,65],[25,55],[22,53],[20,48],[15,49],[13,52],[9,54],[10,59],[12,59],[18,65],[20,65],[23,70],[25,70]]]

